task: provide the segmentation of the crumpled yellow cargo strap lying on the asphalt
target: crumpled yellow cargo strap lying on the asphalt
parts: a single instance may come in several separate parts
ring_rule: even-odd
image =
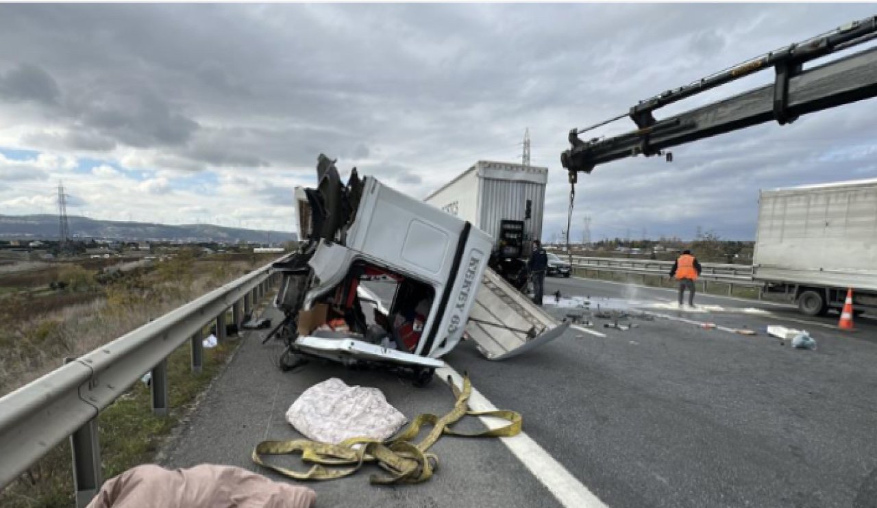
[[[509,437],[521,432],[522,418],[514,411],[469,411],[468,401],[472,395],[469,377],[463,377],[460,391],[448,378],[448,385],[456,399],[450,413],[439,418],[435,414],[420,414],[411,421],[400,434],[388,441],[375,441],[368,438],[352,438],[337,445],[309,440],[262,441],[253,449],[253,462],[273,469],[296,480],[334,480],[349,476],[359,470],[366,462],[376,462],[389,476],[372,475],[371,483],[420,483],[432,476],[439,466],[436,455],[426,453],[442,434],[458,437]],[[453,430],[450,426],[464,416],[491,416],[509,420],[509,425],[489,429],[484,432],[466,433]],[[419,443],[412,442],[420,428],[431,425],[429,434]],[[302,460],[313,465],[308,471],[296,471],[270,464],[262,460],[262,455],[286,455],[301,452]],[[324,466],[346,466],[326,468]]]

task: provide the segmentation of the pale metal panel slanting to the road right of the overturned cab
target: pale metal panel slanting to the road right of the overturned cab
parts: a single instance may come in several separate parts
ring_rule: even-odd
[[[558,322],[496,272],[484,269],[466,332],[488,360],[504,360],[538,348],[567,328],[568,322]]]

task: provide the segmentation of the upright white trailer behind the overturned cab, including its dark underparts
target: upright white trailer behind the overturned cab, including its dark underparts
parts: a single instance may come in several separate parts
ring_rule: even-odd
[[[479,160],[424,201],[492,236],[488,266],[523,290],[531,242],[542,236],[547,181],[547,167]]]

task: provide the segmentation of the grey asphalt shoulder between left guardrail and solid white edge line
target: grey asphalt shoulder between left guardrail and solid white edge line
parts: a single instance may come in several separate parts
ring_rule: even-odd
[[[275,309],[268,309],[268,315],[280,317]],[[389,403],[409,419],[420,413],[444,414],[453,407],[453,394],[439,379],[416,388],[410,380],[386,371],[351,370],[320,360],[281,372],[274,363],[282,345],[276,341],[262,345],[264,333],[245,335],[232,361],[211,385],[196,411],[163,448],[161,465],[185,468],[199,463],[229,464],[278,481],[290,481],[253,463],[250,459],[253,447],[264,440],[302,439],[284,415],[302,392],[330,377],[339,377],[347,385],[379,388]],[[455,428],[474,431],[484,427],[477,419],[467,418]],[[439,469],[426,483],[371,485],[368,476],[383,471],[368,465],[353,476],[308,486],[317,491],[317,506],[327,507],[560,506],[499,439],[446,436],[439,439],[431,452],[439,456]],[[300,471],[310,468],[297,457],[269,460]]]

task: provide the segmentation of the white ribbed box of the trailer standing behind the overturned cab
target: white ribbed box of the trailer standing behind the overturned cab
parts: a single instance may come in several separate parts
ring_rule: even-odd
[[[479,160],[424,200],[499,238],[503,220],[524,221],[524,240],[542,236],[548,168]],[[524,220],[527,201],[531,218]]]

